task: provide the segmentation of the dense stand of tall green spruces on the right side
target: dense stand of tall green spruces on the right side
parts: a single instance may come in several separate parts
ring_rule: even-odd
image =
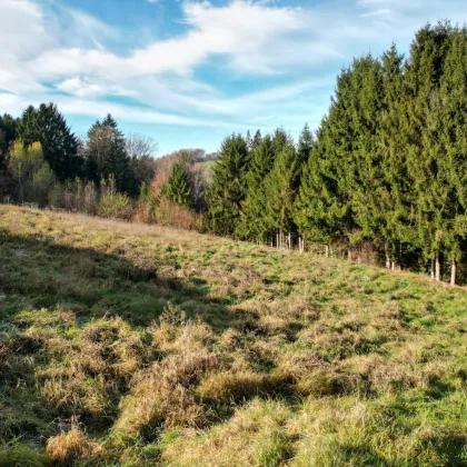
[[[208,192],[220,235],[290,247],[369,247],[389,268],[456,282],[467,235],[467,33],[420,29],[405,58],[395,44],[337,77],[316,135],[281,130],[227,138]]]

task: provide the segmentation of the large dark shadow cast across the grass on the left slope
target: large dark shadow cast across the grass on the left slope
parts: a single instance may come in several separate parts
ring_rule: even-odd
[[[61,306],[80,318],[119,316],[146,326],[168,301],[215,330],[244,330],[257,318],[236,314],[228,299],[209,298],[201,278],[165,276],[156,261],[139,266],[123,256],[0,232],[0,320],[28,307]]]

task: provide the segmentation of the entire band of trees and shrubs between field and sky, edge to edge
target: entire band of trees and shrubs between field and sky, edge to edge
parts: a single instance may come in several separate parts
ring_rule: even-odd
[[[0,195],[93,206],[100,193],[100,210],[85,210],[101,215],[127,212],[133,199],[128,217],[139,220],[278,248],[321,245],[436,280],[448,265],[455,284],[466,275],[466,87],[467,32],[445,21],[421,28],[407,57],[393,44],[354,59],[319,128],[306,125],[297,143],[281,128],[258,130],[228,136],[208,158],[153,160],[152,143],[126,138],[110,116],[81,141],[56,106],[29,107],[0,118]],[[215,160],[209,186],[202,160]]]

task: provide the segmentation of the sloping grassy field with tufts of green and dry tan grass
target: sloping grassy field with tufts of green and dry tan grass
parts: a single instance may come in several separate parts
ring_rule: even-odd
[[[0,465],[460,466],[467,292],[0,206]]]

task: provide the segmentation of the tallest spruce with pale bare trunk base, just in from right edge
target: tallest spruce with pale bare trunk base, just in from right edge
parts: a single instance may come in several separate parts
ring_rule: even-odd
[[[440,170],[446,151],[439,138],[440,127],[448,125],[443,121],[440,81],[451,34],[449,23],[420,29],[405,70],[407,170],[414,193],[414,220],[424,258],[435,258],[437,280],[448,229],[445,211],[449,210],[451,190],[445,171]]]

